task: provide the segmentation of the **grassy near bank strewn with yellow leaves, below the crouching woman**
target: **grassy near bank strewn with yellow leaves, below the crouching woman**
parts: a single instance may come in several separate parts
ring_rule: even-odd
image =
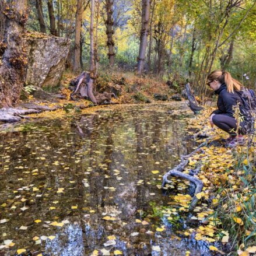
[[[211,141],[227,137],[219,129],[211,129],[208,118],[211,109],[195,118],[191,128],[202,129],[212,136]],[[253,138],[250,138],[253,139]],[[204,140],[201,140],[202,142]],[[255,139],[253,144],[255,143]],[[247,138],[248,143],[248,138]],[[220,143],[219,143],[220,144]],[[198,178],[204,183],[200,199],[191,219],[199,220],[196,229],[184,232],[200,241],[216,242],[210,250],[225,255],[248,256],[256,252],[256,209],[255,209],[255,146],[248,144],[234,149],[225,145],[208,146],[190,158],[190,169],[201,165]],[[189,195],[178,195],[181,208],[188,211]],[[225,253],[223,253],[225,251]]]

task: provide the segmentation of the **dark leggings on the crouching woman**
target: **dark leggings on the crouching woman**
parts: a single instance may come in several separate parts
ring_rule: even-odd
[[[213,115],[213,124],[219,127],[225,132],[228,132],[232,136],[236,136],[237,121],[234,117],[229,117],[228,115]],[[244,127],[244,122],[240,122],[239,134],[246,134],[246,129]]]

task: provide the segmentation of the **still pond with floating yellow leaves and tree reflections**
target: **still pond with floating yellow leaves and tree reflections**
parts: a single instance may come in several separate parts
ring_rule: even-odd
[[[211,255],[182,232],[188,183],[160,189],[195,147],[184,103],[51,115],[0,134],[0,255]]]

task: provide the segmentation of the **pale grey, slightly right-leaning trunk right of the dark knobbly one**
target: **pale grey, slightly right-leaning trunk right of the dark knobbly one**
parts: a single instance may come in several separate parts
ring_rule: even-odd
[[[141,41],[139,44],[138,73],[141,75],[146,55],[149,33],[150,0],[142,0]]]

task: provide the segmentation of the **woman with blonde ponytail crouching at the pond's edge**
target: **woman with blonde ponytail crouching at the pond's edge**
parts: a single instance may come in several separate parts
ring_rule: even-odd
[[[210,73],[207,79],[207,85],[218,94],[218,110],[213,111],[210,116],[211,127],[216,125],[216,127],[229,133],[229,138],[225,140],[227,146],[233,148],[236,145],[243,145],[243,135],[247,133],[247,114],[245,113],[242,118],[243,121],[239,124],[239,134],[237,135],[237,120],[234,118],[233,109],[238,103],[243,107],[240,92],[241,83],[232,78],[229,72],[220,70]]]

